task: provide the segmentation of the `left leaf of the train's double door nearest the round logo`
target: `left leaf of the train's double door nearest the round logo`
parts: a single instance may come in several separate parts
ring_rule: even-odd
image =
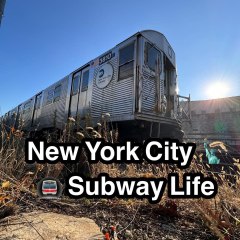
[[[70,94],[70,106],[69,106],[69,114],[68,114],[70,117],[77,116],[80,86],[81,86],[81,72],[77,72],[73,75],[73,78],[72,78],[72,88],[71,88],[71,94]]]

